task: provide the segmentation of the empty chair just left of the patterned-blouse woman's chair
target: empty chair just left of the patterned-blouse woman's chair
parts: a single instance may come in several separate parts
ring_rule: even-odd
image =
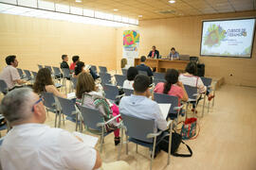
[[[79,110],[76,109],[76,105],[72,100],[57,96],[60,104],[60,112],[66,115],[66,119],[76,124],[76,131],[79,124]]]

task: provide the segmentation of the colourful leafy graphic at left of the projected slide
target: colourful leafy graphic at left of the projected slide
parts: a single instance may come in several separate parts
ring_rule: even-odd
[[[221,26],[210,25],[206,36],[204,37],[204,44],[209,47],[219,46],[221,41],[226,38],[226,33],[226,30]]]

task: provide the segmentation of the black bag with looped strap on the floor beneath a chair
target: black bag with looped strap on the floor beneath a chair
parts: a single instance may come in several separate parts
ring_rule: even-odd
[[[168,153],[168,147],[169,147],[169,133],[168,132],[164,132],[161,142],[159,144],[160,149],[167,152]],[[190,154],[179,154],[177,153],[177,149],[179,147],[180,144],[185,144],[182,141],[182,136],[176,132],[172,133],[172,148],[171,148],[171,154],[174,157],[192,157],[192,149],[188,144],[185,144],[190,152]]]

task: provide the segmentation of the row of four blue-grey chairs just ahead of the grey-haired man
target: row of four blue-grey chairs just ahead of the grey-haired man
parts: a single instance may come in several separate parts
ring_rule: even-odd
[[[107,132],[104,130],[105,125],[109,122],[119,118],[121,116],[122,121],[119,123],[119,127],[121,130],[121,144],[119,146],[119,156],[122,148],[123,143],[123,131],[125,130],[126,134],[126,154],[128,154],[128,141],[139,144],[142,146],[149,147],[151,150],[151,164],[150,169],[152,169],[152,163],[154,160],[154,153],[155,153],[155,145],[156,145],[156,137],[161,133],[157,132],[154,133],[155,122],[153,120],[144,120],[139,119],[137,117],[128,116],[125,114],[121,114],[113,117],[108,122],[102,122],[101,112],[100,110],[91,109],[84,106],[78,106],[76,109],[76,105],[73,101],[69,99],[65,99],[62,97],[55,97],[52,93],[44,93],[45,98],[45,105],[46,109],[51,109],[51,111],[56,113],[55,117],[55,127],[57,127],[57,118],[59,117],[59,125],[61,126],[62,121],[62,114],[68,117],[71,117],[73,122],[76,123],[76,130],[78,127],[81,127],[82,124],[87,129],[87,131],[98,134],[101,136],[101,148],[102,151],[102,144],[104,143],[104,137],[106,137],[111,132]],[[81,119],[78,117],[81,115]],[[64,117],[63,117],[64,119]],[[172,121],[169,122],[169,127],[172,129]],[[80,128],[82,130],[82,128]],[[171,131],[171,130],[170,130]],[[128,138],[129,136],[129,138]],[[172,138],[172,135],[170,135]],[[170,140],[172,141],[172,139]],[[170,152],[171,152],[171,143],[169,147],[169,154],[168,154],[168,163],[170,162]]]

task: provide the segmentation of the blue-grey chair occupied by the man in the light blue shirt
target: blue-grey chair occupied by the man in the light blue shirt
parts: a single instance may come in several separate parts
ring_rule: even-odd
[[[122,118],[122,127],[121,127],[121,143],[119,144],[119,157],[123,144],[123,130],[125,130],[126,134],[126,155],[128,154],[128,142],[132,142],[150,148],[151,150],[151,163],[150,169],[152,169],[152,163],[155,156],[155,146],[159,144],[159,140],[157,137],[162,134],[162,131],[158,131],[154,133],[155,121],[154,120],[146,120],[140,119],[134,116],[129,116],[121,113]],[[170,134],[172,129],[172,121],[168,122],[168,127],[170,127]],[[128,138],[129,137],[129,138]],[[169,135],[169,141],[172,141],[172,134]],[[169,143],[168,149],[168,164],[170,163],[170,154],[171,154],[171,143]]]

